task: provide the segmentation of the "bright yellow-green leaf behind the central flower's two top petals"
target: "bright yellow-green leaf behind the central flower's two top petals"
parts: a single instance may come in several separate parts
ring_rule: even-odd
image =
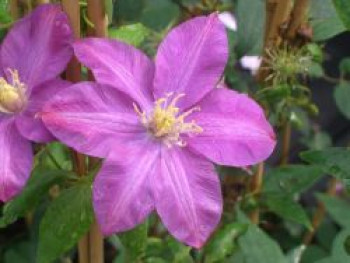
[[[142,44],[149,32],[149,29],[140,23],[121,26],[119,28],[110,28],[108,30],[109,37],[135,47],[139,47]]]

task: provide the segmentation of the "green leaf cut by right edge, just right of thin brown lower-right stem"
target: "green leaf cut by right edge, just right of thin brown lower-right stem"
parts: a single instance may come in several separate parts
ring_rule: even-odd
[[[337,197],[318,194],[318,199],[325,205],[333,220],[345,228],[350,228],[350,203]]]

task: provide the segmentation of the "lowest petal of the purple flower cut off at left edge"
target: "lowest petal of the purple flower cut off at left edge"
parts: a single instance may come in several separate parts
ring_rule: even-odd
[[[16,196],[29,178],[33,163],[31,143],[18,132],[13,118],[0,118],[0,200]]]

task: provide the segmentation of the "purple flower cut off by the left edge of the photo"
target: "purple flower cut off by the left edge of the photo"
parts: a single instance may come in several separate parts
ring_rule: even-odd
[[[25,185],[32,168],[30,141],[53,137],[36,113],[67,86],[58,78],[70,60],[72,34],[57,5],[43,5],[18,21],[0,50],[0,200]]]

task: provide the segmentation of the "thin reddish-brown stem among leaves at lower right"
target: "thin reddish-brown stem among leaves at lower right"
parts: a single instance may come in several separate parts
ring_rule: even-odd
[[[336,186],[337,186],[337,179],[333,177],[328,184],[327,188],[327,195],[329,196],[334,196],[336,193]],[[308,231],[304,238],[303,238],[303,243],[304,245],[309,245],[312,241],[312,239],[315,236],[315,233],[318,229],[318,227],[321,225],[324,217],[326,215],[326,209],[325,206],[322,202],[318,202],[317,209],[314,213],[314,216],[312,218],[312,230]]]

